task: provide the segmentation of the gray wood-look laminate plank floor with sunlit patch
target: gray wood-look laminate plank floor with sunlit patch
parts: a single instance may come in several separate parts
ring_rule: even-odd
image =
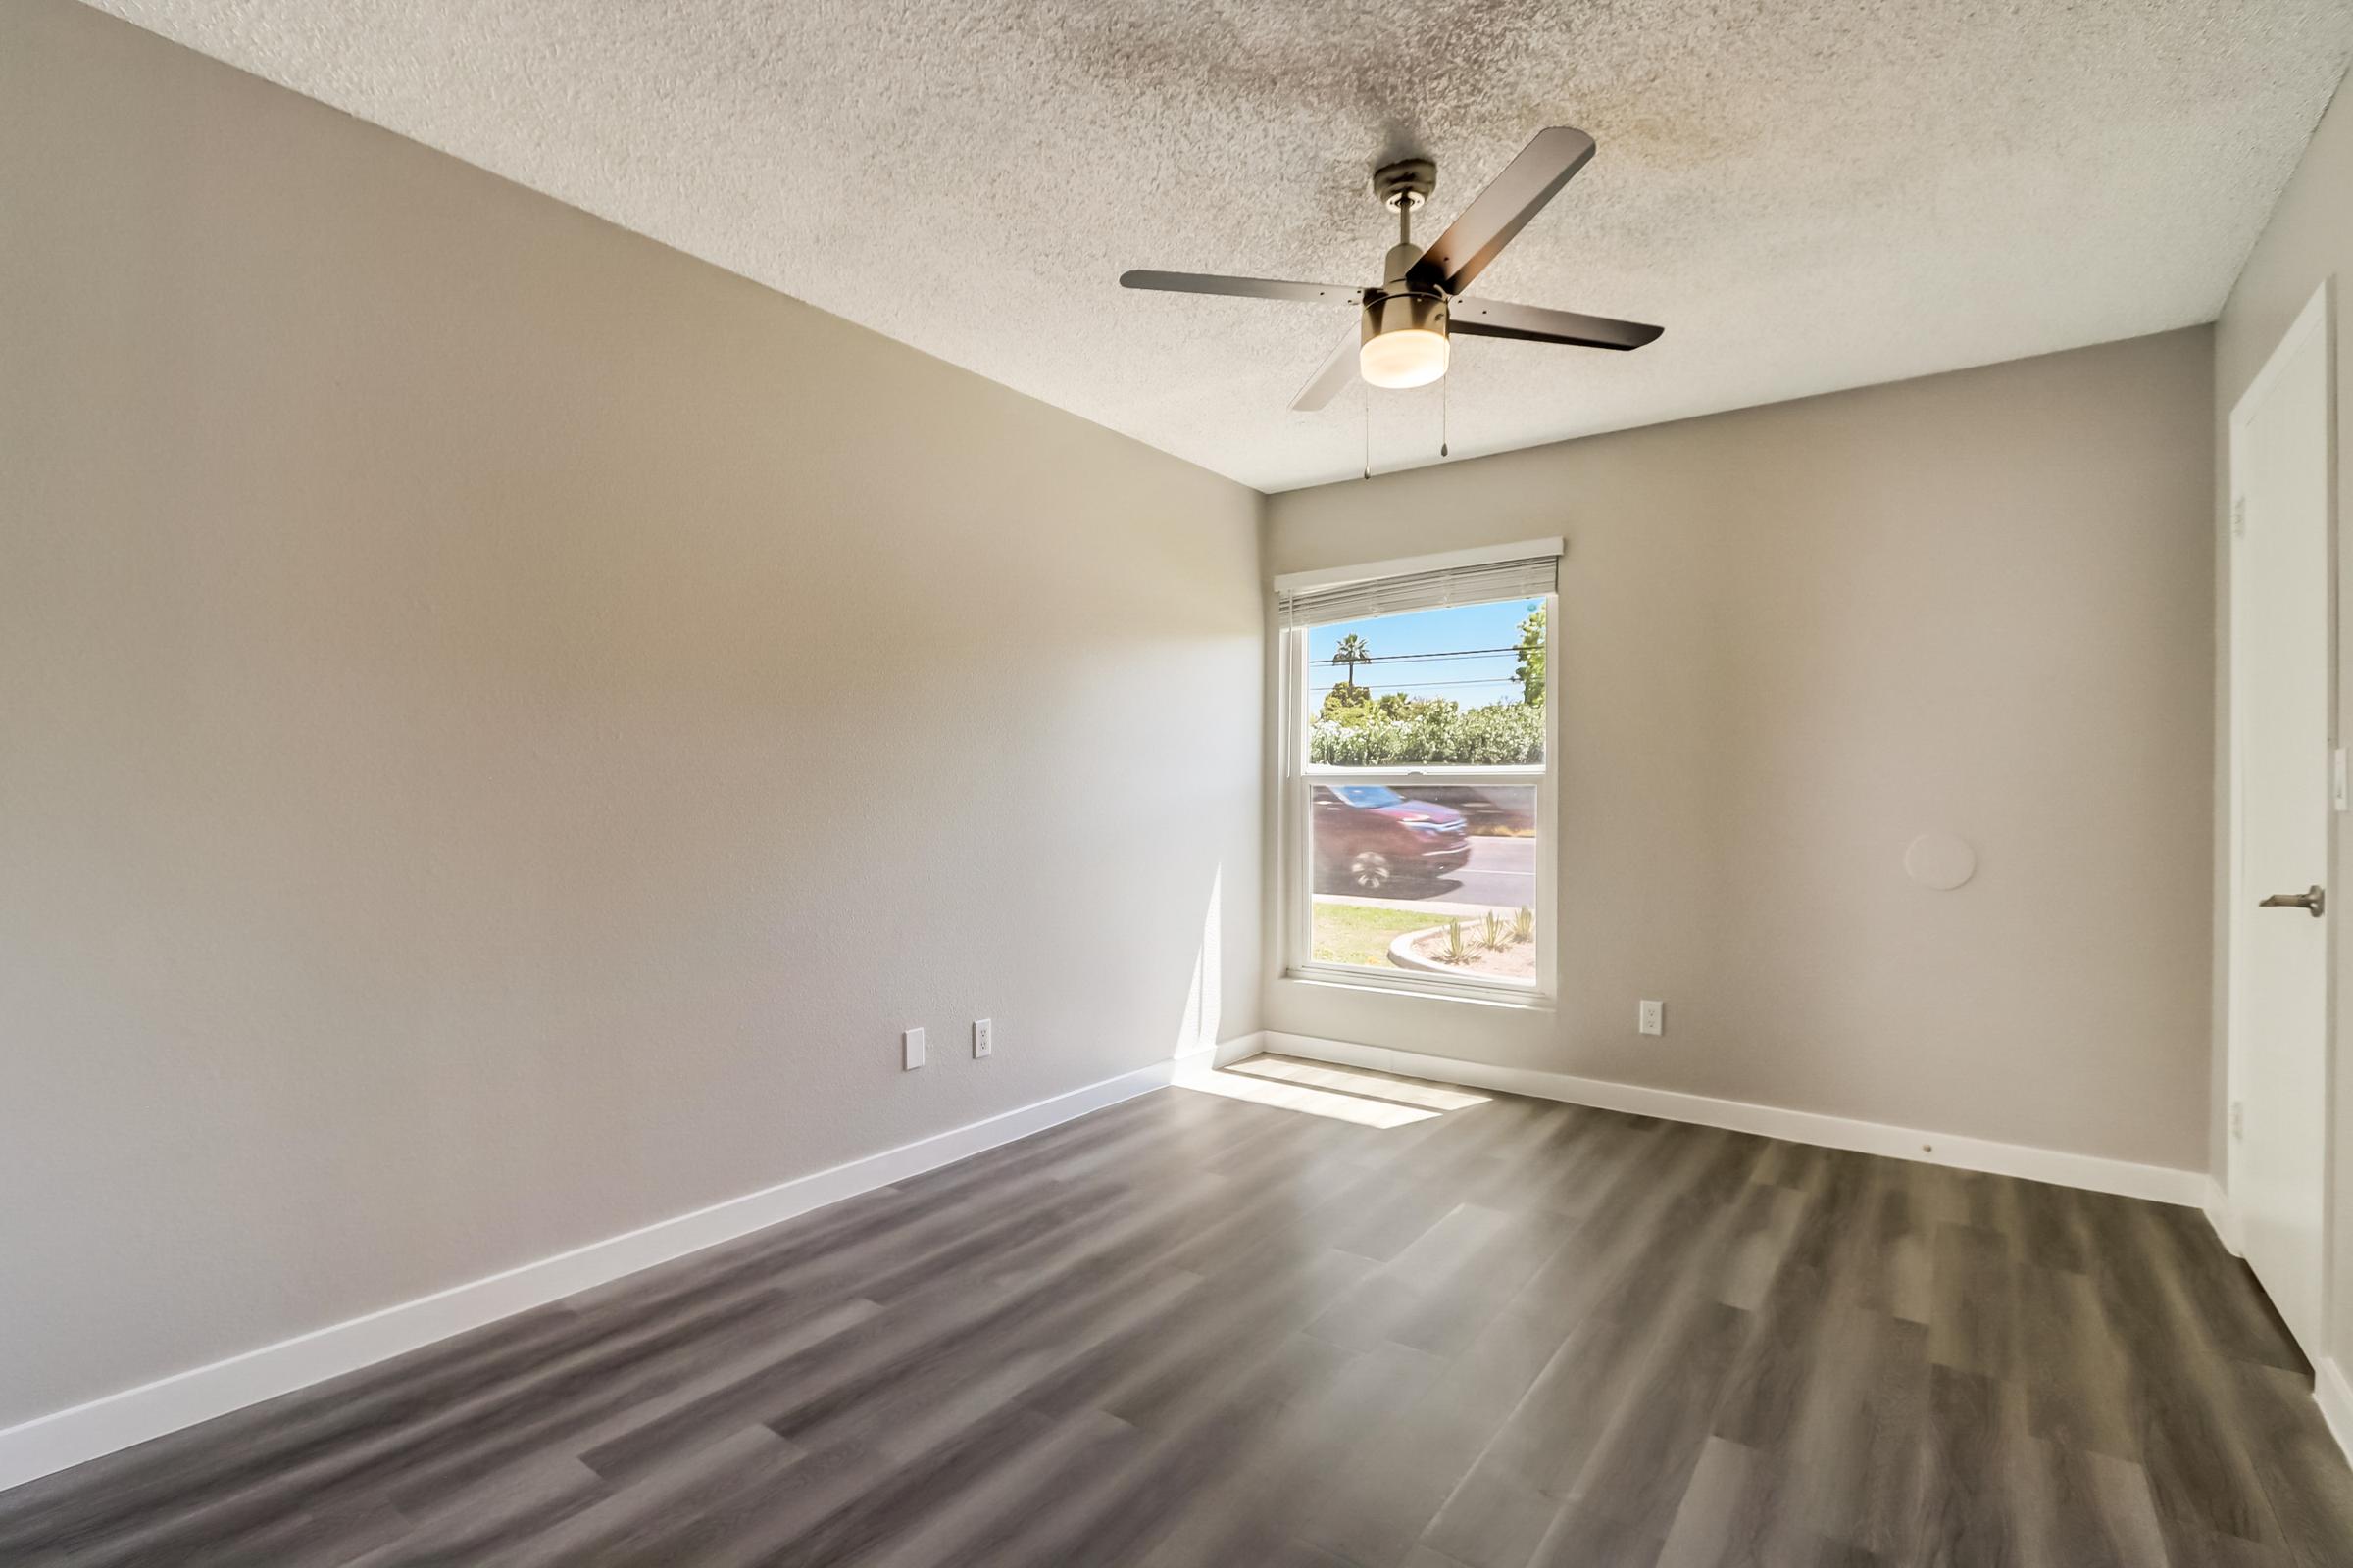
[[[2353,1563],[2186,1208],[1259,1058],[0,1495],[7,1563]]]

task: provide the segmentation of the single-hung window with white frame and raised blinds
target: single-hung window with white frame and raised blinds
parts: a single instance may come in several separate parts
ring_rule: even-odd
[[[1553,994],[1560,541],[1278,578],[1285,971]]]

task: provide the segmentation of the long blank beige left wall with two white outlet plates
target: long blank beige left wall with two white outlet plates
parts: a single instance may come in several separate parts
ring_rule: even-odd
[[[0,1427],[1257,1027],[1252,491],[66,0],[0,214]]]

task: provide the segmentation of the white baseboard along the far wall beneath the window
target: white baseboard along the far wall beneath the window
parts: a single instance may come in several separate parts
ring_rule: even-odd
[[[1784,1110],[1779,1105],[1751,1105],[1748,1100],[1711,1100],[1675,1088],[1645,1088],[1640,1084],[1612,1084],[1607,1079],[1579,1079],[1567,1072],[1539,1072],[1532,1067],[1489,1067],[1452,1056],[1421,1056],[1419,1051],[1391,1051],[1386,1046],[1358,1046],[1344,1039],[1318,1039],[1313,1034],[1266,1032],[1266,1048],[1282,1056],[1306,1056],[1344,1067],[1369,1067],[1374,1072],[1398,1072],[1417,1079],[1464,1084],[1466,1088],[1499,1088],[1504,1093],[1534,1095],[1539,1100],[1567,1100],[1569,1105],[1593,1105],[1635,1117],[1661,1117],[1666,1121],[1697,1121],[1699,1126],[1722,1126],[1737,1133],[1762,1133],[1791,1143],[1812,1143],[1826,1150],[1854,1150],[1857,1154],[1889,1154],[1894,1159],[1918,1159],[1932,1166],[1958,1166],[1962,1171],[1988,1171],[1993,1175],[2024,1175],[2026,1180],[2057,1182],[2061,1187],[2085,1187],[2089,1192],[2115,1192],[2122,1197],[2155,1199],[2160,1204],[2205,1204],[2205,1171],[2174,1171],[2172,1166],[2141,1166],[2129,1159],[2101,1159],[2099,1154],[2068,1154],[2064,1150],[2038,1150],[2021,1143],[1995,1143],[1991,1138],[1958,1138],[1953,1133],[1927,1133],[1885,1121],[1854,1121],[1849,1117],[1824,1117],[1807,1110]]]

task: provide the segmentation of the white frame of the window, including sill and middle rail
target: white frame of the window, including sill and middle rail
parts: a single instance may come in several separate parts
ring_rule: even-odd
[[[1355,567],[1329,574],[1299,574],[1275,578],[1278,590],[1318,583],[1372,581],[1381,576],[1405,576],[1435,564],[1475,564],[1478,559],[1515,559],[1539,552],[1560,555],[1560,541],[1537,541],[1529,545],[1501,545],[1492,550],[1464,550],[1447,557],[1421,557],[1417,562],[1384,562],[1379,567]],[[1318,985],[1353,985],[1360,990],[1384,990],[1426,997],[1449,997],[1459,1001],[1487,1001],[1504,1006],[1548,1009],[1558,999],[1558,804],[1560,804],[1560,701],[1553,682],[1553,632],[1560,625],[1560,595],[1544,595],[1544,764],[1541,766],[1395,766],[1395,769],[1348,769],[1308,764],[1308,628],[1282,628],[1280,651],[1280,701],[1282,701],[1282,973],[1289,980]],[[1332,964],[1315,959],[1315,865],[1311,839],[1311,809],[1315,785],[1367,783],[1391,785],[1412,792],[1412,785],[1534,785],[1537,790],[1537,983],[1489,980],[1480,976],[1424,976],[1405,969],[1374,969],[1360,964]],[[1435,917],[1433,917],[1435,922]]]

